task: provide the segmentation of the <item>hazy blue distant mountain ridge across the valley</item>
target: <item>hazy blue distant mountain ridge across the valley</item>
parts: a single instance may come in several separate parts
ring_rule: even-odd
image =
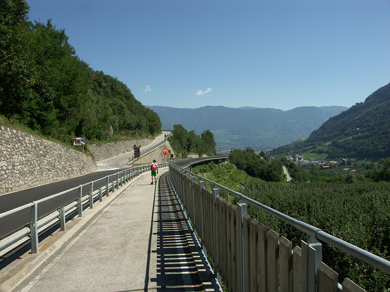
[[[197,109],[177,109],[146,106],[160,117],[163,129],[180,124],[187,130],[201,134],[210,129],[215,137],[217,151],[252,147],[266,150],[289,144],[310,133],[330,117],[346,107],[298,107],[292,110],[264,108],[227,108],[206,106]]]

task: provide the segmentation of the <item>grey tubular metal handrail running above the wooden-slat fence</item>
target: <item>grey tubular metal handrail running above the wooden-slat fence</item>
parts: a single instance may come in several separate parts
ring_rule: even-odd
[[[280,219],[289,225],[295,227],[296,229],[304,232],[308,236],[308,242],[309,246],[312,246],[316,252],[317,257],[315,258],[315,264],[318,265],[322,261],[322,244],[319,242],[321,240],[322,242],[328,243],[337,249],[344,251],[351,256],[354,256],[371,266],[380,269],[381,271],[390,274],[390,261],[380,257],[376,256],[368,251],[365,251],[357,246],[352,245],[349,242],[346,242],[340,238],[334,237],[321,229],[314,227],[308,223],[305,223],[303,221],[294,219],[290,216],[287,216],[269,206],[266,206],[258,201],[255,201],[247,196],[244,196],[243,194],[236,192],[234,190],[231,190],[219,183],[215,183],[214,181],[208,180],[202,176],[199,176],[193,172],[191,172],[189,169],[193,164],[205,162],[207,160],[216,160],[216,159],[226,159],[226,156],[221,157],[207,157],[207,158],[190,158],[190,159],[183,159],[183,160],[176,160],[169,162],[169,173],[170,173],[170,179],[171,182],[174,185],[174,188],[176,192],[180,192],[180,190],[183,190],[182,183],[180,182],[180,178],[178,175],[181,175],[182,177],[189,177],[189,175],[192,176],[193,182],[195,178],[198,178],[200,181],[200,185],[204,185],[204,182],[210,183],[213,185],[215,189],[222,189],[228,193],[228,195],[233,195],[237,199],[239,199],[239,203],[237,204],[237,210],[241,209],[242,205],[244,206],[244,210],[246,212],[246,203],[251,204],[252,206],[255,206],[268,214],[272,215],[273,217]],[[219,192],[219,190],[218,190]],[[245,203],[244,203],[245,202]],[[188,212],[188,210],[187,210]],[[244,213],[245,213],[244,212]],[[203,240],[203,238],[201,238]],[[240,259],[238,258],[237,261]],[[338,289],[341,291],[341,285],[338,284]]]

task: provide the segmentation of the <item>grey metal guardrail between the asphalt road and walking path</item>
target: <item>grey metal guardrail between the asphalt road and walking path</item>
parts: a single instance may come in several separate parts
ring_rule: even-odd
[[[160,167],[165,167],[165,166],[168,166],[168,164],[167,163],[160,164]],[[100,178],[98,180],[89,183],[80,184],[79,186],[73,187],[69,190],[54,194],[52,196],[40,199],[38,201],[33,201],[31,203],[25,204],[18,208],[1,213],[0,219],[15,214],[17,212],[20,212],[22,210],[30,209],[30,222],[26,225],[20,226],[21,229],[18,228],[17,229],[18,231],[15,231],[14,233],[0,240],[0,251],[18,242],[20,239],[23,239],[25,237],[30,237],[31,252],[38,253],[39,252],[38,236],[40,231],[39,229],[41,229],[42,227],[46,226],[49,223],[52,223],[53,221],[59,220],[60,230],[65,231],[66,215],[77,211],[78,217],[82,217],[83,206],[85,207],[89,205],[89,208],[92,209],[94,206],[94,200],[103,201],[104,196],[108,197],[110,192],[114,193],[115,190],[119,188],[119,186],[122,186],[124,183],[131,181],[139,174],[148,171],[149,167],[150,165],[148,164],[148,165],[135,166],[129,169],[125,169],[115,174]],[[115,177],[115,179],[110,181],[110,177]],[[106,180],[105,184],[103,184],[98,188],[95,188],[94,184],[101,180]],[[84,187],[88,187],[89,192],[83,196],[82,190]],[[38,218],[38,208],[40,203],[59,198],[62,195],[65,195],[75,190],[78,190],[78,197],[76,200],[73,200],[72,202],[66,205],[61,205],[61,206],[59,205],[57,206],[54,212],[51,212],[50,214],[46,214],[42,218]],[[26,238],[26,240],[27,239],[28,238]]]

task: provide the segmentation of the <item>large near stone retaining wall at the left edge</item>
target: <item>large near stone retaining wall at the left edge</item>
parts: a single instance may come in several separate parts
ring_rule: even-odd
[[[90,173],[93,158],[20,131],[0,127],[0,194]]]

